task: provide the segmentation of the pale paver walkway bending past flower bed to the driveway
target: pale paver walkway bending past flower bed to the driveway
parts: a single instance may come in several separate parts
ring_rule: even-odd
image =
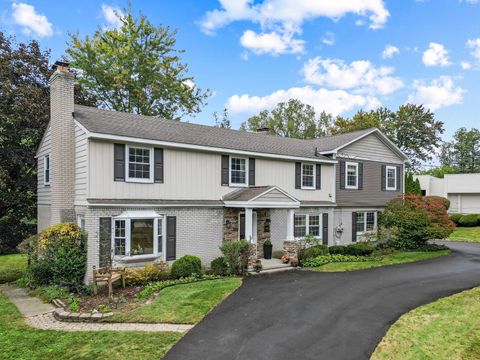
[[[187,324],[143,324],[143,323],[81,323],[64,322],[55,319],[55,308],[50,304],[41,302],[36,297],[29,296],[27,292],[14,285],[2,286],[0,290],[25,316],[26,322],[37,329],[61,331],[172,331],[186,332],[193,325]]]

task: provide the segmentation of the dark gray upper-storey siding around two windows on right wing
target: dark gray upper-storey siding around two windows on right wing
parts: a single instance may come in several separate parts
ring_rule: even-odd
[[[337,205],[338,206],[384,206],[393,198],[402,194],[403,165],[381,163],[377,161],[352,160],[338,158],[338,161],[363,163],[363,189],[340,189],[340,166],[337,166]],[[382,165],[400,166],[400,189],[382,191]]]

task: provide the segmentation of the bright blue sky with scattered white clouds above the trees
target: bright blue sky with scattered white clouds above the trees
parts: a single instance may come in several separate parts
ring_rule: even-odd
[[[38,39],[52,62],[69,32],[115,26],[126,1],[0,0],[0,29]],[[233,126],[296,97],[318,111],[352,115],[423,103],[445,122],[479,127],[480,0],[132,1],[154,24],[178,30],[197,86],[213,92],[188,121]]]

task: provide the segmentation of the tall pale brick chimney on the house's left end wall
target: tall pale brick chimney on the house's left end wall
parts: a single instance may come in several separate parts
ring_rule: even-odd
[[[75,76],[68,65],[57,61],[50,77],[52,224],[75,221],[75,125],[72,115]]]

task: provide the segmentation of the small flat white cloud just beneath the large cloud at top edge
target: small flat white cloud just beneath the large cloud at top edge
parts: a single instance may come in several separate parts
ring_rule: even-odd
[[[255,54],[294,54],[303,52],[305,41],[294,39],[292,33],[279,34],[275,31],[257,34],[247,30],[240,38],[243,47]]]

